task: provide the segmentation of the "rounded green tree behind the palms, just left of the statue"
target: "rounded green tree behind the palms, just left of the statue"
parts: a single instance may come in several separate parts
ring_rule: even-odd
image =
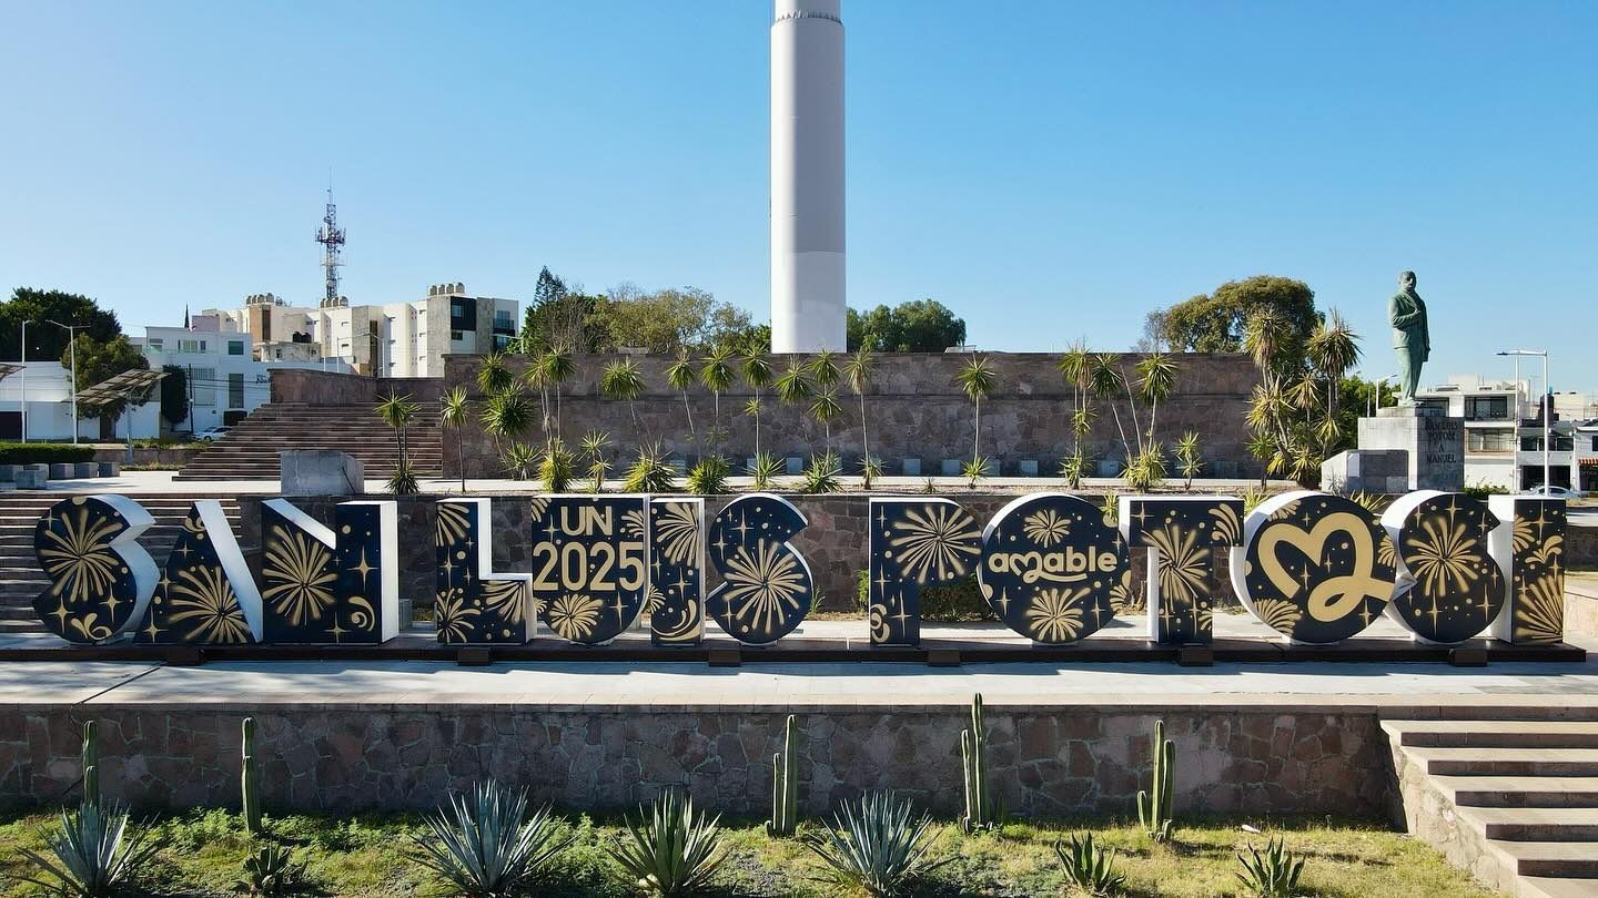
[[[1294,366],[1304,358],[1320,316],[1315,291],[1304,281],[1256,275],[1227,281],[1163,312],[1162,331],[1175,352],[1242,352],[1248,321],[1262,310],[1277,315],[1274,358]]]

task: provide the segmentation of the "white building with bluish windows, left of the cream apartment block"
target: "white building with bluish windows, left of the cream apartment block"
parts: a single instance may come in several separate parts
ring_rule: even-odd
[[[152,371],[174,366],[189,385],[189,417],[165,422],[168,430],[198,433],[208,427],[232,425],[272,398],[272,369],[308,368],[348,374],[342,360],[256,358],[249,334],[214,329],[217,321],[197,315],[189,328],[145,328],[133,345],[144,352]]]

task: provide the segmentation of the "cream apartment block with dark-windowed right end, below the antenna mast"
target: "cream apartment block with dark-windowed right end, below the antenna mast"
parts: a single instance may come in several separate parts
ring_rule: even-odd
[[[387,305],[289,305],[273,294],[241,308],[208,308],[197,326],[249,334],[260,361],[342,361],[356,374],[443,377],[444,355],[502,350],[516,336],[518,302],[468,296],[465,284],[435,284],[427,297]]]

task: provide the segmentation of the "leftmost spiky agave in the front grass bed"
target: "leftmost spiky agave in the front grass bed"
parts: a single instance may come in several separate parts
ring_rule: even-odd
[[[53,856],[29,848],[22,848],[22,855],[54,882],[27,874],[16,877],[70,898],[123,892],[160,848],[145,829],[128,824],[128,812],[120,805],[93,801],[85,801],[74,812],[61,812],[61,828],[45,836],[45,845]]]

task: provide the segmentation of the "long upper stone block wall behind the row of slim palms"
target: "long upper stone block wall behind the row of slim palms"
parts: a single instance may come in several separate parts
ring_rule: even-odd
[[[575,444],[583,433],[601,430],[615,441],[612,460],[625,463],[639,444],[660,441],[678,457],[695,457],[697,449],[689,430],[689,409],[698,436],[716,425],[725,428],[725,452],[737,459],[754,454],[754,420],[743,412],[753,391],[743,379],[718,398],[703,387],[684,396],[673,391],[665,379],[671,360],[665,356],[633,358],[644,377],[646,391],[634,403],[606,399],[599,391],[599,375],[604,366],[618,355],[583,355],[575,360],[577,372],[562,388],[559,399],[561,435],[567,444]],[[972,401],[959,390],[954,375],[968,356],[954,353],[895,353],[877,358],[877,371],[866,391],[866,415],[869,420],[871,454],[882,459],[888,473],[901,473],[904,459],[917,459],[922,471],[936,473],[944,459],[967,460],[972,457],[975,420]],[[1061,457],[1072,451],[1069,427],[1074,391],[1056,371],[1058,355],[1051,353],[991,353],[986,355],[997,374],[997,388],[983,401],[981,451],[999,463],[1000,473],[1015,475],[1021,460],[1037,460],[1045,473],[1056,470]],[[1139,356],[1122,355],[1122,368],[1128,377],[1136,377],[1133,366]],[[1155,422],[1157,436],[1170,444],[1183,431],[1200,435],[1205,459],[1211,460],[1211,475],[1254,476],[1258,465],[1250,459],[1243,415],[1248,395],[1258,382],[1253,363],[1246,355],[1184,353],[1175,356],[1181,369],[1176,395],[1162,403]],[[781,372],[789,361],[804,356],[772,356],[773,368]],[[417,393],[417,398],[435,396],[451,387],[465,387],[475,399],[478,356],[446,356],[444,379],[395,382],[395,388]],[[524,371],[524,360],[511,358],[516,374]],[[320,382],[296,372],[283,379],[281,390],[276,375],[273,401],[313,401],[291,398],[305,385],[307,396],[321,395]],[[348,375],[345,375],[348,377]],[[369,380],[368,380],[369,382]],[[292,383],[292,385],[291,385]],[[312,388],[315,385],[315,388]],[[411,387],[414,385],[414,388]],[[283,396],[283,399],[280,399]],[[783,406],[770,388],[762,391],[759,447],[773,455],[797,455],[807,459],[812,452],[826,449],[826,428],[815,423],[805,407]],[[844,415],[831,427],[833,447],[849,460],[849,471],[865,454],[860,427],[860,401],[839,385],[839,403]],[[551,395],[550,404],[555,406]],[[1139,404],[1135,423],[1127,401],[1117,401],[1112,412],[1104,401],[1095,403],[1099,415],[1087,439],[1090,454],[1101,459],[1117,459],[1122,452],[1120,427],[1133,439],[1136,427],[1147,427],[1152,409]],[[718,411],[719,406],[719,411]],[[551,415],[555,409],[551,407]],[[500,454],[494,439],[473,422],[462,428],[444,431],[444,470],[457,473],[455,441],[463,443],[463,459],[468,476],[502,476]],[[524,439],[537,439],[535,433]]]

